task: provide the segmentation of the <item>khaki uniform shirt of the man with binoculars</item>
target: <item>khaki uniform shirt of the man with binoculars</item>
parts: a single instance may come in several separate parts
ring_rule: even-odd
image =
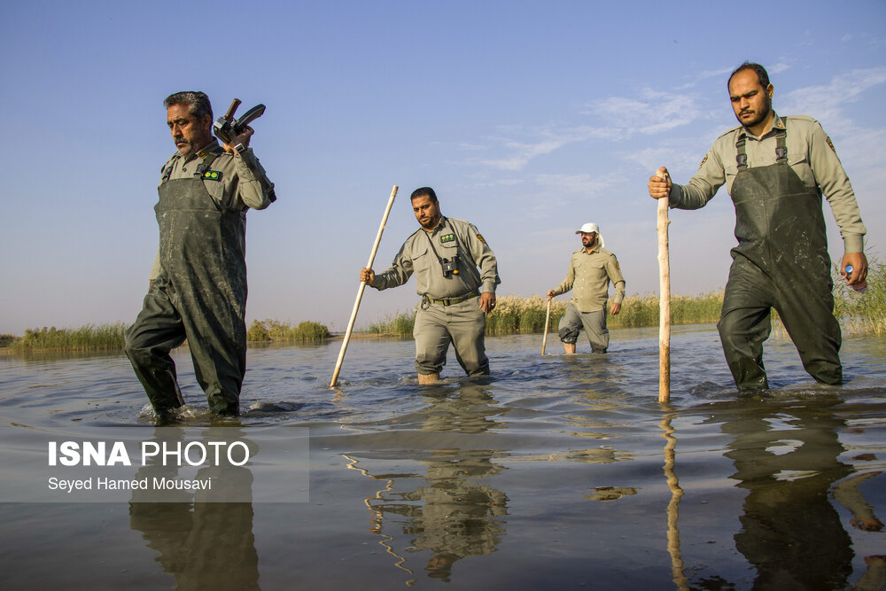
[[[452,259],[455,253],[459,256],[459,273],[444,277],[437,256]],[[372,287],[377,290],[397,287],[405,284],[413,273],[418,295],[431,299],[460,298],[478,288],[481,293],[494,293],[495,286],[501,283],[493,250],[477,228],[447,217],[440,218],[433,231],[419,228],[408,237],[393,258],[391,268],[377,274]]]

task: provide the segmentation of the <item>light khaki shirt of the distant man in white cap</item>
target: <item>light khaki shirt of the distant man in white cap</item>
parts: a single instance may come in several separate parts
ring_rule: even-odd
[[[556,286],[554,295],[572,290],[572,304],[579,312],[597,312],[606,309],[610,281],[615,285],[613,303],[625,299],[625,277],[621,275],[618,259],[600,245],[590,253],[582,247],[572,253],[569,270],[563,283]]]

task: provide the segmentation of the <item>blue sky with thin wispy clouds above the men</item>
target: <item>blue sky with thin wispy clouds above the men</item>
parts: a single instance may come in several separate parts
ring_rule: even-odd
[[[253,147],[279,200],[250,212],[247,316],[343,330],[374,265],[416,229],[409,193],[475,223],[499,295],[546,292],[597,222],[628,293],[657,292],[649,175],[678,183],[735,125],[728,73],[769,69],[774,107],[817,118],[886,245],[886,4],[858,2],[29,2],[0,8],[0,332],[131,322],[157,248],[162,99],[268,106]],[[196,6],[196,5],[195,5]],[[833,258],[842,241],[826,208]],[[672,291],[719,290],[734,245],[721,190],[672,211]],[[367,290],[358,326],[416,302]]]

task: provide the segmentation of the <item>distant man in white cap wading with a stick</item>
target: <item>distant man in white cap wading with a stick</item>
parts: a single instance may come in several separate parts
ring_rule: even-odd
[[[609,330],[606,330],[609,284],[611,281],[615,286],[610,314],[617,315],[625,299],[625,277],[621,275],[615,255],[603,248],[603,237],[597,224],[586,223],[575,233],[581,235],[581,248],[572,253],[566,278],[556,289],[548,291],[548,299],[572,290],[566,314],[557,327],[563,351],[575,353],[579,331],[584,328],[591,352],[606,353],[609,348]]]

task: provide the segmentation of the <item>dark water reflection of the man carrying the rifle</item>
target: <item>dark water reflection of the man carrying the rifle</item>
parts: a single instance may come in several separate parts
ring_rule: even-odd
[[[177,430],[179,441],[184,430]],[[169,428],[153,441],[170,441]],[[231,438],[243,438],[231,429]],[[224,457],[224,455],[221,455]],[[149,464],[136,478],[175,478],[175,466]],[[206,491],[175,491],[177,502],[142,502],[135,490],[129,503],[129,526],[142,533],[156,560],[175,577],[179,589],[258,589],[259,556],[253,535],[253,503],[208,502],[211,498],[249,498],[252,473],[242,466],[201,468],[197,478],[213,478],[213,496]],[[215,496],[221,495],[221,496]],[[165,497],[170,498],[170,497]]]

